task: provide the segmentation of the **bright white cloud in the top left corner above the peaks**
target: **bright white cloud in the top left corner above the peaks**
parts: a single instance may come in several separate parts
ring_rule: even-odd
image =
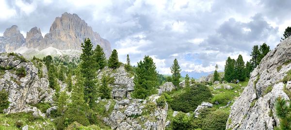
[[[0,21],[7,20],[16,15],[16,10],[9,7],[6,0],[0,0]]]

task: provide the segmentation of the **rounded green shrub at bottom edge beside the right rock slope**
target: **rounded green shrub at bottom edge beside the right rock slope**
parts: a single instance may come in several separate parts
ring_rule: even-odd
[[[203,130],[226,130],[228,114],[222,110],[211,112],[203,122]]]

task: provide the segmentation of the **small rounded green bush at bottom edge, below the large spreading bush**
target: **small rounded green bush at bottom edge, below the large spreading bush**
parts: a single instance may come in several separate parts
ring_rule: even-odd
[[[191,128],[190,118],[184,113],[178,113],[171,122],[173,130],[189,130]]]

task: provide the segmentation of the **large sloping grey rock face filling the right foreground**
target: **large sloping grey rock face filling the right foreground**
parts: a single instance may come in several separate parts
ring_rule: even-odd
[[[280,83],[291,69],[291,38],[287,38],[269,52],[259,66],[251,73],[249,83],[242,95],[231,107],[226,129],[273,130],[279,125],[275,116],[275,100],[282,97],[289,100]],[[278,67],[282,69],[277,70]],[[269,93],[267,87],[273,87]]]

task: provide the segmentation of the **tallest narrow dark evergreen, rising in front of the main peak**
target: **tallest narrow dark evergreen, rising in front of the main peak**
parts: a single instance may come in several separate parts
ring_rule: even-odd
[[[84,95],[85,100],[89,102],[90,105],[96,100],[97,93],[97,80],[96,80],[96,71],[99,68],[96,68],[93,59],[93,44],[90,39],[85,39],[84,43],[81,44],[82,54],[81,54],[81,73],[84,77]]]

